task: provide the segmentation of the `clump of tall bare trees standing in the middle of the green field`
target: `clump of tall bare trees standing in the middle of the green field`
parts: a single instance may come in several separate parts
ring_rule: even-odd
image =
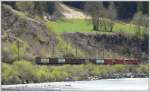
[[[87,14],[91,15],[93,30],[104,31],[102,30],[102,27],[104,27],[105,31],[112,32],[114,21],[117,17],[117,11],[113,2],[109,4],[108,8],[104,7],[103,2],[87,2],[85,10]],[[104,18],[109,20],[106,21]]]

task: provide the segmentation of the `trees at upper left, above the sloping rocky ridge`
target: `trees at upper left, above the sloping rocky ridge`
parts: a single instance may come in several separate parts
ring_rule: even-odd
[[[52,15],[55,10],[54,2],[12,2],[8,3],[15,9],[27,13],[28,16],[34,17],[36,15],[43,18],[44,14]],[[50,6],[50,7],[49,7]]]

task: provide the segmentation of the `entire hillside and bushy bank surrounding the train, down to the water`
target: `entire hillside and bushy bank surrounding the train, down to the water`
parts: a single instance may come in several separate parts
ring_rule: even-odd
[[[19,4],[20,10],[2,4],[2,84],[148,77],[147,28],[140,25],[139,32],[139,26],[116,20],[111,31],[95,31],[88,16],[71,6],[57,3],[53,20],[45,19],[49,13],[39,3],[26,2],[39,5],[31,10]],[[35,57],[137,58],[139,64],[38,65]]]

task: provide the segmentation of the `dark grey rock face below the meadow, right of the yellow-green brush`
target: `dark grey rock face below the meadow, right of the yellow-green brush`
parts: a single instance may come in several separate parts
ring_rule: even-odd
[[[137,39],[128,35],[120,33],[114,33],[111,35],[100,33],[65,33],[65,40],[73,43],[76,47],[81,48],[91,55],[95,50],[112,50],[125,57],[125,53],[128,52],[136,57],[136,54],[145,53],[145,57],[148,57],[147,49],[148,40]],[[125,51],[125,53],[124,53]],[[94,54],[95,55],[95,54]]]

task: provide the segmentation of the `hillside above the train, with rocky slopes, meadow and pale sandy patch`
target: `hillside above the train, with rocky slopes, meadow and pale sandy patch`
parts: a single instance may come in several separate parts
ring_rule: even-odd
[[[133,33],[125,34],[117,31],[93,34],[91,25],[81,19],[77,19],[77,11],[59,3],[60,11],[70,14],[74,20],[65,15],[65,21],[40,21],[24,15],[24,12],[16,11],[10,6],[2,7],[2,57],[5,62],[17,60],[17,42],[20,45],[20,58],[34,60],[34,57],[104,57],[95,50],[103,49],[106,58],[138,57],[147,61],[148,39],[147,36],[137,38]],[[83,12],[81,12],[81,15]],[[84,15],[84,14],[83,14]],[[78,17],[79,18],[79,17]],[[80,17],[81,18],[81,17]],[[83,18],[83,17],[82,17]],[[80,22],[81,21],[81,22]],[[13,24],[13,25],[12,25]],[[78,25],[77,25],[78,24]],[[120,25],[119,22],[116,25]],[[81,26],[82,25],[82,26]],[[65,27],[68,26],[68,27]],[[89,28],[88,28],[89,27]],[[10,30],[11,29],[11,30]],[[64,30],[64,32],[60,32]],[[71,33],[70,33],[71,32]],[[79,32],[79,33],[76,33]],[[81,33],[82,32],[82,33]],[[129,35],[131,34],[131,35]],[[64,36],[65,35],[65,36]],[[127,36],[128,35],[128,36]],[[65,38],[64,38],[65,37]],[[139,49],[140,48],[140,49]],[[76,49],[78,52],[76,53]],[[102,52],[102,51],[100,51]],[[134,52],[134,53],[133,53]],[[141,52],[141,54],[137,54]],[[77,55],[76,55],[77,54]],[[94,55],[94,56],[93,56]]]

